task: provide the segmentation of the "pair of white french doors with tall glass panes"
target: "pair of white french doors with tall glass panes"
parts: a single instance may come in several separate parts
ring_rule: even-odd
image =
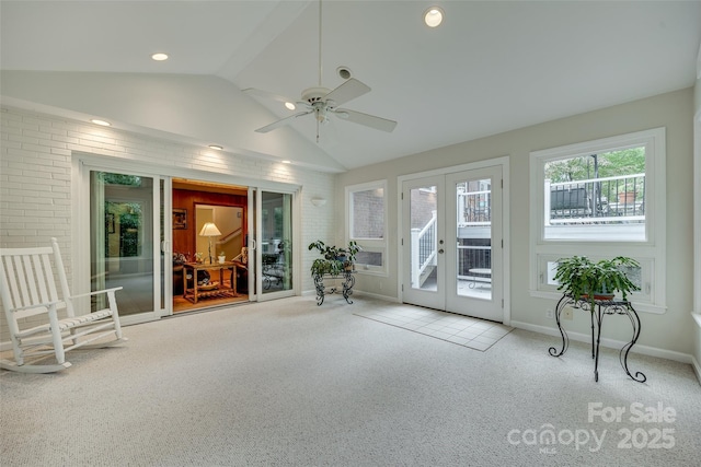
[[[402,182],[402,296],[504,320],[502,166]]]

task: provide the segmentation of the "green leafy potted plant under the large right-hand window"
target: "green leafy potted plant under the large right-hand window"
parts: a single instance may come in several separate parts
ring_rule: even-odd
[[[611,300],[621,292],[628,294],[640,290],[625,275],[624,268],[640,267],[640,264],[624,256],[591,261],[586,256],[559,259],[554,279],[560,282],[558,290],[575,300],[585,300],[594,305],[595,300]]]

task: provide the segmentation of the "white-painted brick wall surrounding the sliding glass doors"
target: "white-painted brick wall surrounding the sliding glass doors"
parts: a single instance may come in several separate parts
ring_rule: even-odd
[[[217,152],[180,142],[96,127],[62,117],[0,108],[0,246],[48,245],[59,241],[71,282],[71,157],[74,152],[138,161],[150,165],[193,168],[237,178],[294,184],[301,190],[302,290],[313,289],[307,273],[314,255],[307,245],[317,238],[333,242],[333,174],[272,161]],[[125,164],[125,168],[127,165]],[[329,199],[314,207],[312,197]],[[4,312],[0,341],[8,340]]]

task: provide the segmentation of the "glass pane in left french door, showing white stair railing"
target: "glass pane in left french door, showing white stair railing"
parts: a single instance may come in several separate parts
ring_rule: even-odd
[[[438,287],[438,189],[435,185],[410,189],[411,287]]]

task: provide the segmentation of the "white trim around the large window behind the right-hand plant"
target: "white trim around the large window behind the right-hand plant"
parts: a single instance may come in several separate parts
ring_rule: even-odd
[[[629,256],[643,267],[642,293],[632,295],[635,310],[666,313],[666,130],[664,127],[616,137],[567,144],[530,153],[530,295],[556,300],[560,292],[547,284],[548,260],[573,255],[593,258]],[[595,152],[609,152],[619,148],[645,144],[645,212],[646,240],[635,242],[606,242],[605,240],[545,240],[544,238],[544,163],[553,159],[575,157]]]

